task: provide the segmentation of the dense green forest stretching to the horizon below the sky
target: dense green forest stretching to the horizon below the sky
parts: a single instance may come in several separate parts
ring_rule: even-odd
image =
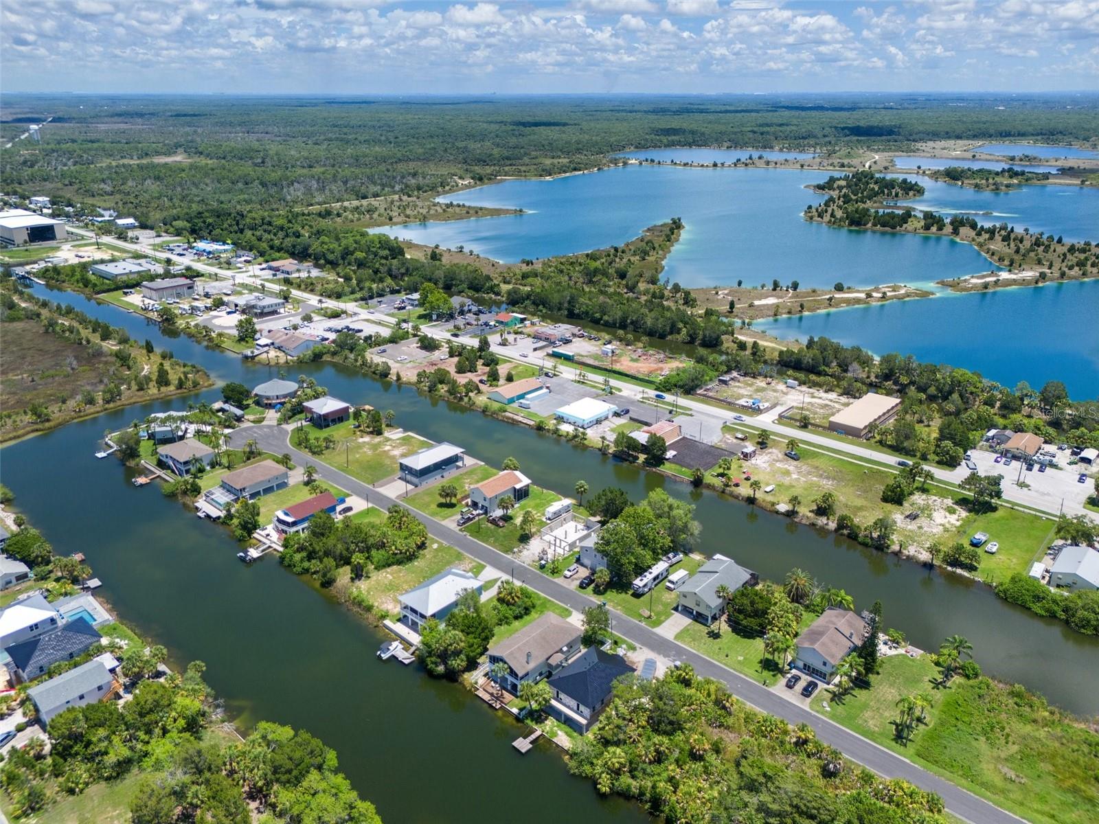
[[[79,197],[162,222],[201,204],[315,205],[458,180],[590,168],[686,145],[907,151],[923,140],[1087,141],[1099,112],[1041,96],[200,98],[4,96],[5,120],[52,115],[4,152],[5,189]],[[1053,118],[1056,112],[1056,118]]]

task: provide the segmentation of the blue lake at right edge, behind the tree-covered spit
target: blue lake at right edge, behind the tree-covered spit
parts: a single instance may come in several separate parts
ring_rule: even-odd
[[[1099,240],[1099,189],[1078,186],[1020,186],[1010,191],[978,191],[918,177],[926,193],[903,201],[945,215],[972,214],[980,223],[1008,223],[1018,230],[1046,232],[1066,241]],[[984,214],[988,212],[988,214]]]

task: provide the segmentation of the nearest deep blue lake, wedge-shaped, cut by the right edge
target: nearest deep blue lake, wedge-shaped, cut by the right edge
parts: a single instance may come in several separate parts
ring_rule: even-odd
[[[786,339],[830,337],[875,354],[979,371],[1004,386],[1064,381],[1075,400],[1099,398],[1099,281],[1050,283],[893,301],[757,321]]]

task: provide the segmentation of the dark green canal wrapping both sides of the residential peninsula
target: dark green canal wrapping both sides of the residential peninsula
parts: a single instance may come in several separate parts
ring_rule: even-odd
[[[242,361],[188,338],[165,339],[154,325],[115,307],[71,293],[47,293],[42,287],[35,291],[123,325],[136,339],[148,337],[158,348],[169,347],[177,357],[203,365],[220,380],[253,386],[276,374],[271,367]],[[961,633],[973,642],[986,671],[1022,682],[1074,712],[1099,712],[1099,694],[1092,689],[1099,682],[1099,638],[1000,601],[981,584],[861,547],[715,492],[692,490],[598,452],[424,398],[411,387],[377,381],[348,367],[291,367],[291,376],[299,372],[347,401],[392,409],[398,425],[434,441],[460,444],[490,465],[500,466],[504,458],[515,456],[536,483],[563,494],[570,494],[581,478],[593,491],[618,486],[634,500],[664,488],[697,506],[701,552],[733,557],[768,579],[780,579],[791,567],[801,567],[821,581],[844,588],[861,605],[880,599],[885,623],[904,631],[917,646],[937,648],[943,637]],[[208,390],[196,399],[215,397],[217,390]],[[460,783],[476,780],[462,768],[471,760],[460,757],[473,751],[469,747],[482,750],[486,764],[497,765],[496,759],[503,757],[499,750],[512,756],[504,739],[514,737],[514,728],[482,713],[462,690],[441,688],[408,670],[376,664],[377,636],[371,631],[291,580],[270,560],[244,568],[224,532],[187,514],[153,489],[133,488],[113,460],[92,457],[106,428],[151,411],[185,407],[187,400],[131,408],[12,444],[0,452],[4,482],[59,552],[88,555],[122,617],[152,631],[180,660],[207,660],[212,686],[247,720],[308,722],[340,749],[356,786],[385,800],[390,810],[419,810],[400,806],[409,803],[401,799],[414,792],[415,776],[407,776],[407,781],[391,777],[393,770],[409,769],[410,761],[433,772],[457,771],[454,780]],[[391,680],[398,677],[404,680]],[[291,694],[295,698],[288,700]],[[470,717],[477,719],[476,724],[467,723]],[[453,735],[452,727],[457,731]],[[433,742],[435,748],[424,749],[424,741]],[[447,753],[446,769],[432,760],[439,753]],[[529,767],[524,762],[517,769],[525,775]],[[545,809],[556,809],[552,793],[570,788],[571,779],[559,766],[546,764],[542,769],[547,773],[540,780],[546,792]],[[499,782],[518,786],[512,777],[520,773],[509,770],[503,764],[496,771],[478,766],[474,776],[491,775],[492,780],[507,776]],[[387,776],[386,781],[379,781],[378,775]],[[524,782],[523,792],[528,791]],[[431,808],[435,820],[467,820],[463,793],[440,793],[440,804],[444,798],[445,808]],[[570,792],[569,803],[580,820],[587,815],[585,810],[596,815],[603,809],[586,786]],[[470,800],[469,820],[475,813]],[[541,815],[537,810],[534,814]],[[402,814],[395,820],[418,819]]]

